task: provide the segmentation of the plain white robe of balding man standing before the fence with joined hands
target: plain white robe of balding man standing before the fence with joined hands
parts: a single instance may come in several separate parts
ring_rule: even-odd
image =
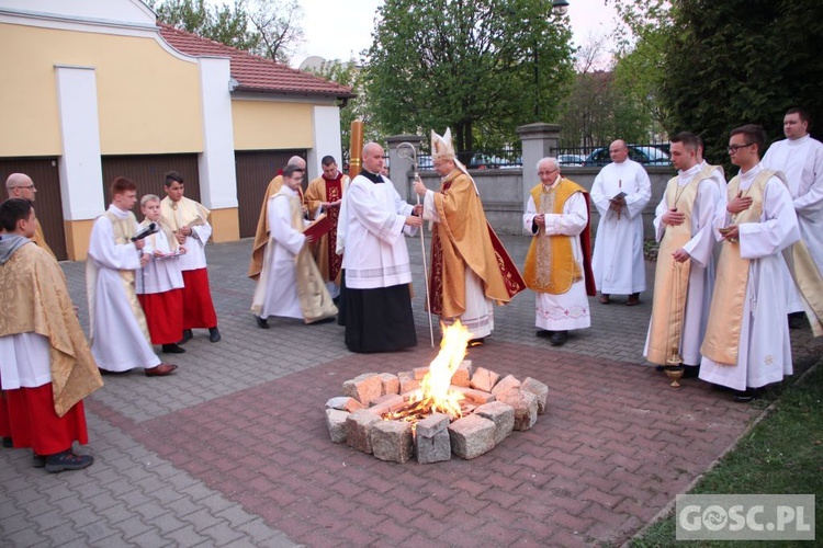
[[[609,208],[609,201],[621,192],[625,193],[625,207],[618,216]],[[641,214],[652,198],[649,174],[633,160],[609,163],[597,174],[590,195],[600,213],[591,258],[595,285],[605,294],[644,292],[646,271]]]

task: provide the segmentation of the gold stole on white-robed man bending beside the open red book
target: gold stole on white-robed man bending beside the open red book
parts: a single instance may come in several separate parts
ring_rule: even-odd
[[[292,228],[303,231],[303,196],[284,196],[289,199],[292,214]],[[277,197],[274,199],[278,199]],[[269,246],[271,247],[271,246]],[[337,307],[331,295],[326,289],[323,274],[312,256],[308,246],[303,246],[294,258],[295,283],[297,297],[303,312],[303,321],[312,323],[324,318],[331,318],[337,313]]]

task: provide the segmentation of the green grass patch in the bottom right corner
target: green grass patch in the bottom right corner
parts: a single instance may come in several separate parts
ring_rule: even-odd
[[[801,383],[764,395],[759,404],[779,397],[773,409],[690,491],[703,493],[815,494],[814,543],[769,543],[768,546],[823,545],[823,362]],[[674,512],[630,541],[632,548],[662,546],[745,547],[763,541],[676,541]]]

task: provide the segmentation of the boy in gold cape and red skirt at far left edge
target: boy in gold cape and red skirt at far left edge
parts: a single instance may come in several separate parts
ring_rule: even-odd
[[[63,271],[30,239],[32,203],[0,204],[0,436],[48,472],[86,468],[72,445],[88,443],[82,400],[103,383]]]

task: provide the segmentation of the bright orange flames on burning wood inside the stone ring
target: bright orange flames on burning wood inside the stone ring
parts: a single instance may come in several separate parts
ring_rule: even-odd
[[[420,388],[412,393],[404,409],[386,414],[386,419],[416,423],[431,413],[446,413],[452,419],[463,415],[460,409],[463,395],[450,390],[449,387],[454,372],[466,355],[472,333],[460,320],[451,326],[443,326],[442,329],[440,352],[429,364],[429,373],[420,381]]]

